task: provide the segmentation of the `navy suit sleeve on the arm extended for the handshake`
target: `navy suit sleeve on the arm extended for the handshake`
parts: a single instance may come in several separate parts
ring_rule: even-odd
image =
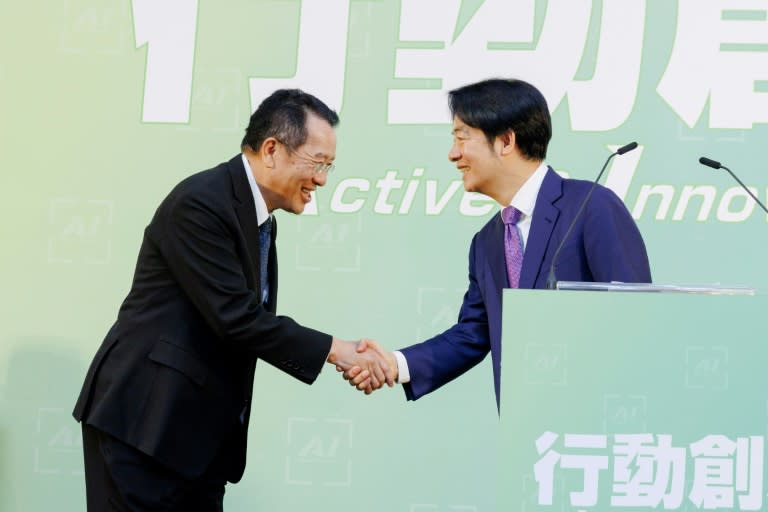
[[[409,400],[430,393],[482,361],[490,351],[488,316],[477,279],[475,243],[469,250],[469,287],[458,322],[442,334],[401,350],[411,381],[403,385]]]

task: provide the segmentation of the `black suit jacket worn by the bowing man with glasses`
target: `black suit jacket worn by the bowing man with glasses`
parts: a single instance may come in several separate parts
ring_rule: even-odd
[[[269,261],[263,304],[259,227],[240,155],[179,183],[144,232],[133,285],[75,418],[187,478],[223,450],[237,482],[256,360],[312,383],[331,346],[330,335],[275,315],[274,243]]]

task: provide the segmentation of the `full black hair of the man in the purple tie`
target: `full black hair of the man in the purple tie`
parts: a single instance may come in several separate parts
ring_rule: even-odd
[[[544,160],[552,138],[552,119],[544,95],[528,82],[492,78],[448,93],[451,115],[482,130],[488,142],[507,130],[528,160]]]

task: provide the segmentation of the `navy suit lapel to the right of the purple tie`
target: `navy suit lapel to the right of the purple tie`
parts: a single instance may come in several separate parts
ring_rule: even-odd
[[[523,255],[523,268],[520,271],[520,288],[535,287],[552,231],[557,223],[557,218],[560,216],[560,209],[554,203],[562,194],[563,179],[550,167],[536,198],[531,230]]]

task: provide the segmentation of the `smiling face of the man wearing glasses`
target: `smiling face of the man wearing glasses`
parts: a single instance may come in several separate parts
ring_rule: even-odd
[[[306,129],[307,140],[294,150],[271,139],[272,168],[262,190],[270,212],[278,208],[303,212],[312,200],[310,194],[327,181],[322,167],[336,158],[336,132],[327,121],[313,114],[307,115]]]

